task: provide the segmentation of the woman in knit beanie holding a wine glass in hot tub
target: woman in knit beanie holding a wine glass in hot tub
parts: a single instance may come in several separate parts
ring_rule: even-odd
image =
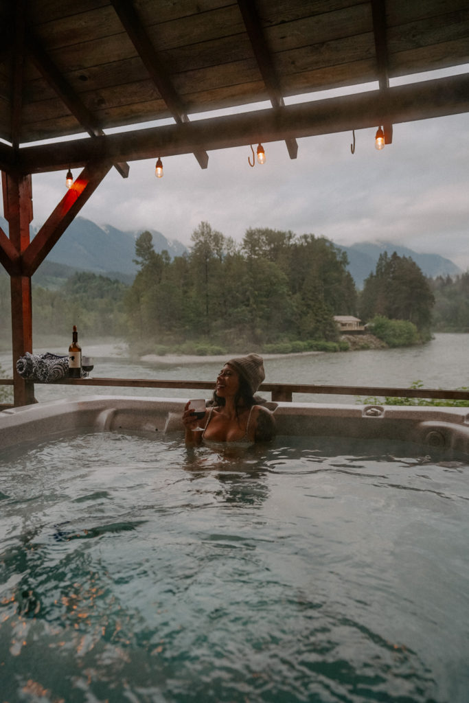
[[[184,408],[186,444],[248,447],[257,441],[274,439],[274,417],[255,399],[264,378],[264,361],[259,354],[227,361],[217,376],[213,401],[205,416],[198,420],[188,409],[188,403]],[[195,427],[203,427],[203,432]]]

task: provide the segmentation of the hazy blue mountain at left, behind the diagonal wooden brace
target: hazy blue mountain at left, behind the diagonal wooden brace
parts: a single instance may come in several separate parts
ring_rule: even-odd
[[[8,223],[0,217],[1,228],[8,233]],[[121,231],[110,225],[98,226],[84,217],[76,217],[60,237],[53,250],[39,267],[46,264],[62,264],[76,270],[101,273],[110,278],[122,278],[126,274],[132,278],[137,267],[132,261],[135,257],[135,240],[143,230]],[[167,250],[170,257],[181,256],[186,252],[184,244],[177,240],[168,240],[161,232],[150,230],[156,252]],[[35,232],[32,231],[31,236]],[[37,283],[39,280],[34,279]],[[127,282],[127,281],[126,281]]]

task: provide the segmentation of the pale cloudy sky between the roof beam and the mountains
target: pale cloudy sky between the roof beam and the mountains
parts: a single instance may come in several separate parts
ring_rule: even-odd
[[[374,148],[375,128],[362,129],[354,155],[352,132],[304,138],[296,160],[285,143],[264,143],[266,163],[254,168],[249,147],[210,152],[205,170],[193,155],[167,157],[162,179],[154,159],[131,162],[129,178],[112,169],[80,214],[124,230],[155,229],[186,245],[200,221],[236,240],[260,226],[342,245],[386,240],[442,254],[465,271],[468,127],[467,114],[395,124],[382,151]],[[34,225],[63,197],[64,180],[62,172],[33,177]]]

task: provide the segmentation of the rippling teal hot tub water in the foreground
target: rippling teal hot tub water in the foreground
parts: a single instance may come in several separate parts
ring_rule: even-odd
[[[465,702],[468,466],[284,440],[2,453],[2,701]]]

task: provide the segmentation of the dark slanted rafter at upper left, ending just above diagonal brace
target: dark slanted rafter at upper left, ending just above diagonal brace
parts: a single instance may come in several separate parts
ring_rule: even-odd
[[[32,32],[27,33],[27,47],[37,70],[56,92],[68,110],[72,112],[72,115],[77,118],[84,130],[87,131],[91,137],[103,136],[104,132],[101,127],[96,124],[94,116],[88,108],[86,108],[86,105],[80,100],[75,91],[72,90],[68,81],[65,80],[56,65],[51,61],[44,49],[42,49],[41,44],[37,38],[34,37]],[[129,165],[127,163],[115,163],[115,168],[121,174],[122,178],[127,178],[129,175]]]

